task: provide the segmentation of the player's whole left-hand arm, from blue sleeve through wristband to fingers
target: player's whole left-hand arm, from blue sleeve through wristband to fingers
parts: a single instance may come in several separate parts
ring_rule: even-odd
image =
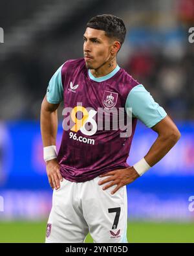
[[[59,180],[63,178],[59,172],[60,166],[56,159],[56,135],[58,130],[58,107],[63,101],[63,84],[61,70],[58,68],[47,87],[47,95],[41,104],[41,135],[43,139],[44,155],[47,165],[47,176],[50,186],[59,189]]]

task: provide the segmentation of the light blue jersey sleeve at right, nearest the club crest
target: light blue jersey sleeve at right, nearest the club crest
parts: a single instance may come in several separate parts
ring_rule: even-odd
[[[160,122],[167,115],[164,108],[155,102],[149,91],[142,84],[133,87],[129,92],[125,102],[125,110],[127,113],[132,111],[132,116],[142,121],[149,128]]]

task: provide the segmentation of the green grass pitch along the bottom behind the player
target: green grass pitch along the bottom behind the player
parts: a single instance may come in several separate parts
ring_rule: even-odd
[[[0,222],[0,242],[44,242],[47,222]],[[129,222],[129,242],[194,242],[194,222]],[[87,236],[86,242],[92,242]]]

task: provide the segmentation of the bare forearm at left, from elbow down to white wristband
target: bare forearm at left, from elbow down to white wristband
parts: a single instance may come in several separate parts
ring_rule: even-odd
[[[56,145],[57,130],[57,110],[50,112],[41,109],[41,136],[43,140],[43,146]]]

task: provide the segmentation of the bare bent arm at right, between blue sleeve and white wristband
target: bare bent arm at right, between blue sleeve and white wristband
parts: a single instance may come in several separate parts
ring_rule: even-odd
[[[148,165],[152,167],[175,146],[178,139],[180,139],[180,132],[168,115],[151,128],[158,134],[158,137],[144,158]]]

